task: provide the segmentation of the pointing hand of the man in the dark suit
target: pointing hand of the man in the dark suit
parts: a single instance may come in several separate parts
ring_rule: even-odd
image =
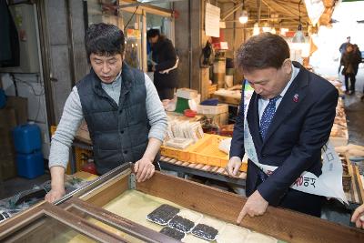
[[[268,208],[268,201],[261,197],[258,190],[256,190],[250,197],[248,197],[247,202],[245,203],[243,209],[241,210],[237,223],[240,224],[241,220],[243,220],[244,217],[250,216],[255,217],[259,215],[263,215]]]

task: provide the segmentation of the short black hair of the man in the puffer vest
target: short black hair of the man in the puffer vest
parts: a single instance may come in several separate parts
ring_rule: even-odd
[[[90,61],[90,55],[113,56],[124,55],[124,33],[116,25],[105,23],[89,25],[85,35],[86,54]]]

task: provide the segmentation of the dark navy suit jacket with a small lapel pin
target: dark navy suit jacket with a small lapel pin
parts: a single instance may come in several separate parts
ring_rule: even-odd
[[[327,80],[308,72],[297,62],[298,76],[283,96],[268,128],[266,140],[259,135],[258,95],[254,92],[248,107],[248,125],[261,164],[278,167],[264,182],[258,179],[259,168],[248,161],[247,196],[256,189],[269,205],[282,206],[282,198],[303,171],[319,177],[321,172],[321,147],[329,139],[336,115],[338,90]],[[244,96],[244,92],[242,92]],[[298,96],[295,102],[293,97]],[[244,156],[244,98],[241,98],[237,123],[234,127],[230,157]],[[300,195],[307,195],[300,193]],[[302,198],[289,197],[288,204]],[[298,203],[298,201],[297,201]]]

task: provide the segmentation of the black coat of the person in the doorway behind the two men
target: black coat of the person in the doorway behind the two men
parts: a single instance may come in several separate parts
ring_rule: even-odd
[[[152,59],[157,63],[154,72],[154,84],[157,89],[177,87],[177,68],[169,71],[168,74],[159,73],[176,65],[177,55],[172,42],[165,36],[160,35],[157,43],[152,46],[152,51]]]

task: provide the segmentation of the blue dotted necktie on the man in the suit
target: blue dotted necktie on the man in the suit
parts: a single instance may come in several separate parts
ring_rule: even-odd
[[[263,111],[263,115],[260,118],[260,136],[263,140],[267,136],[268,127],[273,119],[274,114],[276,113],[276,102],[280,98],[280,96],[276,96],[274,98],[269,99],[268,106]],[[260,177],[261,181],[265,181],[267,175],[264,174],[262,170],[258,170],[258,176]]]

